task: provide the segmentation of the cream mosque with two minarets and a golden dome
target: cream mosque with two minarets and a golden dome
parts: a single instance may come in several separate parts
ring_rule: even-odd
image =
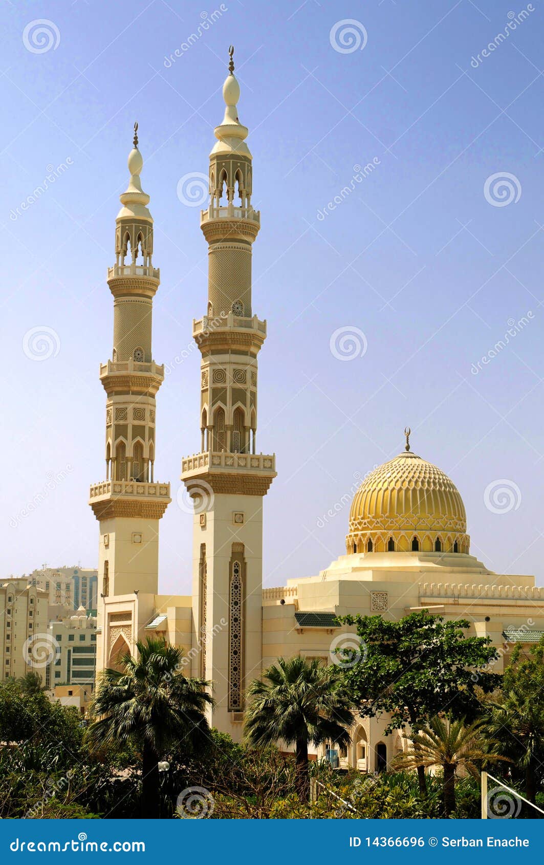
[[[248,683],[278,657],[330,663],[349,639],[345,614],[399,619],[429,610],[468,618],[470,633],[499,650],[495,670],[516,642],[544,632],[544,588],[534,577],[491,572],[470,555],[463,500],[443,471],[409,444],[372,471],[355,493],[345,553],[313,577],[263,588],[263,500],[275,457],[257,450],[259,349],[266,321],[252,298],[252,251],[260,227],[253,209],[253,157],[238,118],[240,86],[231,51],[223,85],[225,115],[209,156],[208,298],[193,322],[202,355],[200,451],[182,458],[195,505],[192,596],[158,593],[159,522],[170,484],[155,480],[156,394],[164,368],[151,347],[153,219],[140,182],[138,125],[120,195],[113,296],[112,359],[100,366],[106,390],[106,479],[91,486],[99,521],[97,671],[118,664],[136,641],[162,635],[186,651],[187,675],[214,683],[214,727],[240,740]],[[195,431],[196,432],[196,431]],[[402,746],[383,736],[383,719],[361,719],[342,766],[374,772]],[[333,743],[331,743],[333,744]],[[322,753],[320,750],[319,753]]]

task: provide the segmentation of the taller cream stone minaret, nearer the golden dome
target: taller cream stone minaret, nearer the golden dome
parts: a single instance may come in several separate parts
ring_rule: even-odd
[[[240,739],[244,690],[261,668],[262,505],[275,458],[256,451],[257,355],[266,321],[252,311],[252,155],[238,119],[234,48],[223,85],[225,117],[209,157],[207,314],[193,322],[202,353],[201,452],[182,461],[195,504],[194,675],[214,682],[213,723]],[[232,726],[231,726],[232,725]]]

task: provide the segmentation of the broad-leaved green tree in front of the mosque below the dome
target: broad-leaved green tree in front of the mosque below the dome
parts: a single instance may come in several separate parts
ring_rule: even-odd
[[[488,671],[496,659],[490,638],[467,637],[466,619],[446,621],[422,611],[398,621],[381,616],[340,621],[356,626],[363,648],[360,663],[341,665],[345,686],[362,715],[391,715],[386,735],[406,725],[416,734],[445,712],[470,724],[482,710],[478,695],[492,692],[501,681]],[[423,766],[418,778],[425,795]]]

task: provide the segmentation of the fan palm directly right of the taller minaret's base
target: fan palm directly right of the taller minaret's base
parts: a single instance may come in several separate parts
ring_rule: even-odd
[[[264,681],[253,680],[247,691],[246,738],[253,746],[295,746],[298,792],[309,794],[308,746],[324,741],[349,743],[354,722],[352,703],[338,668],[324,667],[314,658],[278,658],[265,671]]]

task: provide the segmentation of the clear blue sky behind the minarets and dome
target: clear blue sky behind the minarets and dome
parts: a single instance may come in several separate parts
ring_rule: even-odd
[[[155,359],[171,364],[191,345],[207,247],[199,208],[176,186],[207,171],[234,42],[262,222],[253,310],[269,334],[259,450],[276,452],[278,465],[265,502],[265,585],[343,553],[341,503],[356,475],[400,452],[406,424],[413,450],[458,485],[472,552],[542,584],[544,11],[530,8],[486,57],[509,12],[526,6],[227,0],[169,66],[165,57],[198,33],[201,3],[3,4],[3,575],[98,559],[86,500],[105,471],[106,267],[135,119],[162,275]],[[206,7],[208,20],[214,10],[221,4]],[[46,41],[32,28],[23,39],[42,18],[52,22]],[[344,25],[331,44],[344,19],[359,22],[362,50],[349,35],[342,42]],[[354,166],[373,160],[353,182]],[[488,178],[505,172],[511,190],[490,181],[486,197]],[[54,350],[40,362],[28,355],[43,328]],[[340,328],[364,333],[362,356],[334,356]],[[483,356],[490,362],[473,366]],[[156,477],[174,498],[161,528],[164,592],[190,590],[191,517],[176,490],[182,455],[200,446],[199,381],[191,350],[157,400]],[[21,516],[48,481],[47,497]],[[494,497],[499,481],[506,499]]]

